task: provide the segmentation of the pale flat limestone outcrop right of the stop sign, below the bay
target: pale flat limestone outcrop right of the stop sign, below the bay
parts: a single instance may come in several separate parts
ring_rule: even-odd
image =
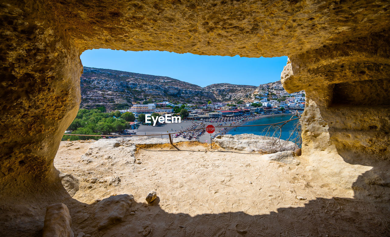
[[[254,134],[222,135],[217,136],[213,141],[220,147],[227,150],[244,150],[247,152],[279,152],[293,149],[295,143],[291,141],[280,140],[277,146],[274,146],[275,138],[268,136],[259,136]],[[281,145],[280,145],[281,144]]]

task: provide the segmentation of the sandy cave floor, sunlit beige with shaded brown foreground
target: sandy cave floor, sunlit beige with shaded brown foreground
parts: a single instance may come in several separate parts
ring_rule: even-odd
[[[62,141],[55,158],[58,170],[80,181],[73,199],[86,207],[111,195],[132,194],[135,215],[97,230],[88,218],[93,214],[70,205],[75,236],[362,236],[388,231],[388,212],[378,214],[379,207],[355,200],[352,188],[308,172],[304,159],[289,165],[188,142],[138,146],[133,156],[125,152],[131,143],[110,154],[91,152],[93,143]],[[95,160],[85,162],[86,153]],[[117,186],[110,181],[115,177],[121,180]],[[158,198],[147,204],[151,190]]]

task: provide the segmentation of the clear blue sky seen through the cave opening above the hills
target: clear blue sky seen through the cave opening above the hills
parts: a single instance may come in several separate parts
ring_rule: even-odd
[[[86,67],[168,76],[201,87],[214,83],[254,85],[280,80],[287,57],[245,58],[167,51],[86,50]]]

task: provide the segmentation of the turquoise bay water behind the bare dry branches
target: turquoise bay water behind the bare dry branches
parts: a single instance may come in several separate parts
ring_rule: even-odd
[[[291,116],[293,116],[293,114],[272,115],[272,116],[260,118],[260,119],[254,120],[254,121],[246,122],[245,124],[242,124],[242,125],[273,124],[273,123],[289,120],[291,118]],[[294,118],[296,118],[296,117],[294,117]],[[287,122],[287,124],[285,124],[282,127],[282,136],[280,136],[280,138],[283,140],[286,140],[287,138],[289,138],[290,132],[293,130],[294,123],[296,123],[298,121],[299,120],[297,119],[297,120]],[[266,128],[266,127],[267,126],[236,127],[236,131],[234,131],[234,129],[231,129],[226,134],[236,135],[236,134],[243,134],[243,133],[252,133],[255,135],[266,136],[266,132],[263,131],[264,128]],[[267,134],[267,136],[272,136],[273,131],[275,131],[275,129],[271,131],[271,134]],[[300,134],[297,134],[297,133],[293,134],[293,136],[291,136],[290,140],[294,139],[296,136],[300,136]]]

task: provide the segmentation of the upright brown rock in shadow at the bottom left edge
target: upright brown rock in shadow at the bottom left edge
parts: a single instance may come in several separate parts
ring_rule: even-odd
[[[48,205],[43,226],[43,237],[74,237],[71,223],[69,209],[64,203]]]

